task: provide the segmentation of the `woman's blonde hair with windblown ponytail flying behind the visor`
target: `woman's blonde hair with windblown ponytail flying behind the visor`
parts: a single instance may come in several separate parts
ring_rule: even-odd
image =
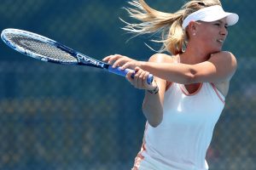
[[[131,18],[141,22],[137,24],[125,22],[126,26],[123,29],[136,35],[160,32],[161,40],[153,41],[163,43],[160,52],[168,51],[171,54],[181,54],[183,47],[186,47],[187,33],[183,30],[182,24],[189,14],[201,8],[221,5],[219,0],[191,0],[172,14],[155,10],[149,7],[144,0],[132,0],[129,3],[132,8],[125,9]]]

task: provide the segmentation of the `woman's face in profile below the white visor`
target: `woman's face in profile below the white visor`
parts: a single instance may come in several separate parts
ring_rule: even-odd
[[[226,19],[213,22],[195,22],[195,38],[199,47],[205,48],[209,53],[221,51],[228,35]]]

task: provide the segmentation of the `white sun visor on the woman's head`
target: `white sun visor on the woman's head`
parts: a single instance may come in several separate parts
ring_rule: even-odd
[[[227,13],[224,9],[219,5],[214,5],[211,7],[201,8],[198,11],[195,11],[192,14],[189,14],[185,20],[183,20],[183,29],[189,26],[191,21],[205,21],[205,22],[212,22],[216,20],[221,20],[227,17],[227,25],[233,26],[239,20],[238,14],[234,13]]]

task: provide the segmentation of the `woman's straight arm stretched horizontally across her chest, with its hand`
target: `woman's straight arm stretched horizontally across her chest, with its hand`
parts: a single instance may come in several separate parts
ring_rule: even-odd
[[[122,69],[134,69],[138,66],[156,77],[181,84],[229,82],[237,67],[236,57],[230,52],[212,54],[207,61],[195,65],[137,61],[121,55],[114,55],[106,60],[114,66],[122,66]]]

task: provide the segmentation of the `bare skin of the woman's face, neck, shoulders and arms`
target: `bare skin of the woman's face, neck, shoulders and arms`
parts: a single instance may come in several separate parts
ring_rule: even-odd
[[[145,89],[143,114],[152,127],[157,127],[163,118],[163,101],[166,86],[170,82],[184,84],[190,94],[194,93],[201,82],[213,82],[218,90],[226,96],[230,79],[236,72],[236,58],[230,52],[222,51],[228,35],[226,19],[213,22],[191,21],[186,28],[189,36],[186,51],[170,57],[166,54],[154,54],[148,62],[137,61],[123,55],[110,55],[103,60],[113,67],[131,68],[126,78],[135,88]],[[180,63],[175,63],[180,60]],[[154,75],[154,82],[148,85],[148,72]],[[147,90],[159,87],[158,94]]]

